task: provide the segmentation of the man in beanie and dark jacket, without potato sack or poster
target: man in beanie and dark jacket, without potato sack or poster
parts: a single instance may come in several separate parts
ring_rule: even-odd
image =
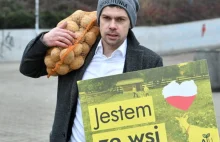
[[[101,36],[87,55],[84,65],[58,77],[57,105],[51,142],[84,142],[84,128],[76,82],[141,69],[162,66],[162,59],[153,51],[139,45],[131,29],[135,26],[139,3],[137,0],[99,0],[97,22]],[[68,47],[75,37],[65,30],[65,24],[42,33],[26,47],[20,71],[38,78],[46,75],[44,56],[49,47]]]

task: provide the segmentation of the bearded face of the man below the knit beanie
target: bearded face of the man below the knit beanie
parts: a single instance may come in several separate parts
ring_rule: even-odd
[[[118,48],[126,39],[130,20],[126,11],[119,7],[105,7],[100,15],[100,33],[105,48]]]

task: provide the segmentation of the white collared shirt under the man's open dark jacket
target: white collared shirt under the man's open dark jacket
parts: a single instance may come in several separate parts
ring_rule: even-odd
[[[87,67],[82,80],[110,76],[120,74],[123,72],[125,55],[127,50],[127,39],[123,44],[116,49],[110,57],[106,57],[103,54],[103,47],[101,40],[99,41],[98,47],[95,51],[95,55]],[[72,127],[72,135],[70,142],[85,142],[84,126],[82,120],[82,111],[80,106],[80,100],[78,98],[76,117],[74,119]]]

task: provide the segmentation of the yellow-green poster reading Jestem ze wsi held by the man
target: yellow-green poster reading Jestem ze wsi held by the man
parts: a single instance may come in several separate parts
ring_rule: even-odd
[[[87,142],[219,142],[206,60],[77,84]]]

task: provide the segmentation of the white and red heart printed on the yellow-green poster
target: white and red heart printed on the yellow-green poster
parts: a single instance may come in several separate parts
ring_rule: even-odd
[[[167,103],[186,111],[197,95],[197,86],[193,80],[184,81],[181,84],[174,80],[163,88],[162,94]]]

